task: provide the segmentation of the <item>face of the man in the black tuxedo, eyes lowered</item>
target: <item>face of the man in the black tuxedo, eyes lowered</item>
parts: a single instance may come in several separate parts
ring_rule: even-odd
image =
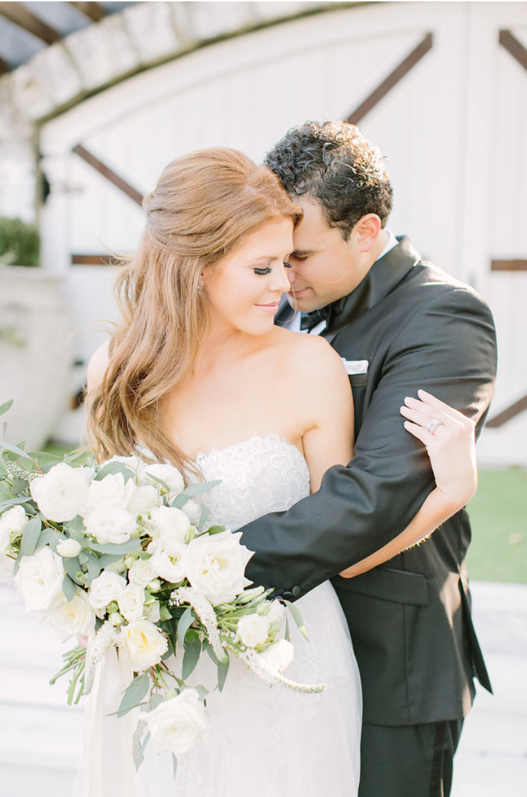
[[[330,227],[318,202],[295,197],[303,207],[302,222],[293,234],[294,252],[288,261],[291,291],[287,299],[301,312],[309,312],[347,296],[365,277],[365,258],[357,223],[345,241],[338,227]],[[369,266],[368,266],[369,267]]]

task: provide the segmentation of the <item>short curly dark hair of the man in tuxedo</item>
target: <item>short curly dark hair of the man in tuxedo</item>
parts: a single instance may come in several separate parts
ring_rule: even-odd
[[[292,198],[308,194],[345,241],[367,213],[384,227],[392,210],[392,186],[381,152],[354,124],[306,122],[291,128],[264,163]]]

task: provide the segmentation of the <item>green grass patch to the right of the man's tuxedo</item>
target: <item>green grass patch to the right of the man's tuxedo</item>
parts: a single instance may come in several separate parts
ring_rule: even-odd
[[[527,583],[527,471],[480,470],[467,509],[470,578]]]

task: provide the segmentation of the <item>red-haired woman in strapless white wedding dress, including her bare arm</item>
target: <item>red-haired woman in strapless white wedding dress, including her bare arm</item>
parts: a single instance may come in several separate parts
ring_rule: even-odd
[[[88,369],[90,436],[101,461],[142,442],[187,481],[221,479],[203,501],[211,521],[236,529],[289,508],[353,457],[341,359],[325,340],[273,324],[302,211],[271,171],[228,149],[170,163],[144,206],[146,230],[117,285],[123,320]],[[364,568],[430,533],[474,491],[470,428],[426,400],[453,432],[450,450],[432,457],[452,495],[436,488]],[[420,424],[423,405],[412,406],[407,428],[419,436],[427,416]],[[292,640],[287,675],[324,681],[326,692],[270,688],[232,662],[223,692],[207,699],[209,741],[180,756],[175,779],[167,754],[150,750],[137,775],[131,756],[104,760],[92,717],[84,795],[357,795],[361,689],[345,619],[329,582],[297,605],[310,642]],[[191,682],[212,688],[208,662]]]

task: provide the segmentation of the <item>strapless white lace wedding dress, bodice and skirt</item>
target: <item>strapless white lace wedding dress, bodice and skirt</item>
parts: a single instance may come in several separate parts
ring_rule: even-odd
[[[240,528],[267,512],[289,508],[310,492],[306,460],[290,442],[269,434],[197,457],[206,481],[221,479],[203,498],[209,521]],[[330,540],[328,540],[330,544]],[[308,695],[270,686],[231,658],[223,691],[216,668],[201,657],[187,680],[213,691],[207,698],[209,740],[178,757],[150,748],[133,787],[116,775],[116,791],[86,797],[355,797],[359,779],[361,686],[342,609],[329,582],[296,602],[310,642],[290,622],[295,660],[285,673],[327,685]],[[114,720],[115,721],[115,720]],[[116,720],[114,733],[118,732]],[[114,760],[115,764],[115,760]],[[102,778],[102,783],[105,778]],[[135,791],[135,795],[134,795]]]

